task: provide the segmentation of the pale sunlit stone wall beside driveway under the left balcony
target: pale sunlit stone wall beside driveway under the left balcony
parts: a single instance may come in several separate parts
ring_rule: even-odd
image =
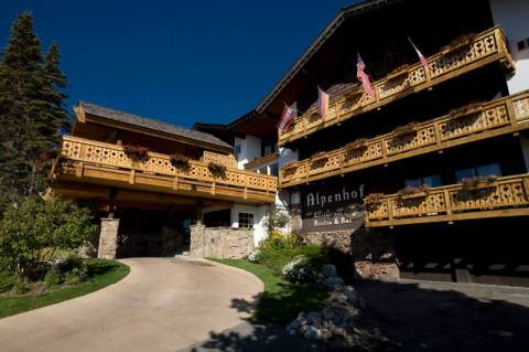
[[[191,226],[190,255],[193,257],[240,259],[252,250],[252,230]]]

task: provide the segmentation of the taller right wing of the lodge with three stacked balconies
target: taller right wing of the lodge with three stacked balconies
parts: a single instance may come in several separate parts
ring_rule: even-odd
[[[360,276],[529,285],[528,15],[515,0],[341,9],[247,114],[263,126],[285,104],[303,111],[277,135],[277,203],[291,230],[347,250]],[[356,77],[357,53],[375,97]],[[246,158],[256,137],[276,134],[238,136],[236,150]]]

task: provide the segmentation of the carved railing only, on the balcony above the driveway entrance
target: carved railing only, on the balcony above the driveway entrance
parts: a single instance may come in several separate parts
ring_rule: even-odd
[[[188,168],[175,168],[168,154],[148,152],[145,161],[134,162],[118,145],[105,143],[84,138],[64,136],[61,148],[62,160],[78,161],[83,164],[98,166],[109,169],[120,169],[136,174],[152,174],[171,177],[180,180],[204,181],[210,184],[233,186],[246,191],[266,192],[273,196],[278,188],[276,177],[227,167],[222,175],[214,175],[208,169],[208,162],[190,160]]]

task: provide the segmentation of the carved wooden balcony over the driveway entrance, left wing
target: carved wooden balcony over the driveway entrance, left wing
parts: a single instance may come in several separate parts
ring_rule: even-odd
[[[227,164],[214,175],[208,161]],[[188,168],[172,166],[170,157],[149,152],[145,161],[134,162],[118,145],[64,136],[54,177],[61,181],[122,186],[132,190],[183,194],[208,199],[264,204],[274,200],[278,179],[238,170],[228,156],[205,153],[203,161],[190,160]]]

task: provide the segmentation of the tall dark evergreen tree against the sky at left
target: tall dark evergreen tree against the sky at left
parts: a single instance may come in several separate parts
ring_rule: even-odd
[[[61,128],[68,121],[63,93],[67,83],[58,62],[56,44],[44,58],[33,17],[20,14],[0,62],[0,193],[4,204],[43,190]]]

